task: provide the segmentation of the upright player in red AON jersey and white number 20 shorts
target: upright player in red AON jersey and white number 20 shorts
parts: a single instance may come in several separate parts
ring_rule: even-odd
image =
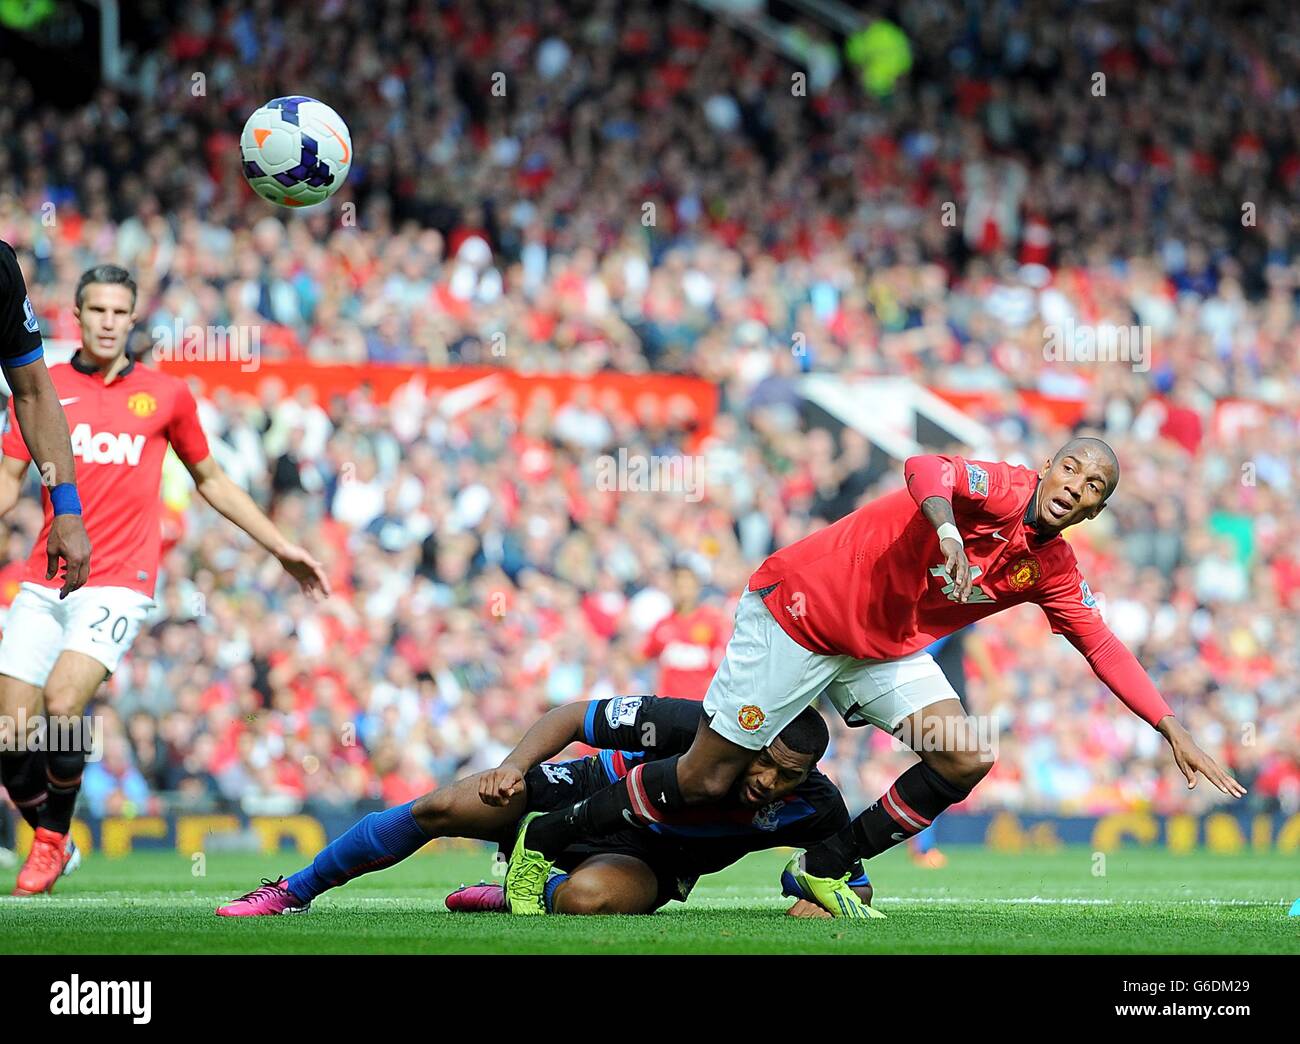
[[[69,844],[73,806],[86,764],[81,729],[52,728],[49,719],[79,723],[86,703],[121,662],[153,607],[160,543],[159,485],[170,445],[203,498],[280,559],[311,597],[329,593],[320,564],[290,543],[208,452],[194,397],[185,381],[146,369],[126,351],[135,324],[135,283],[126,269],[99,265],[77,285],[73,315],[81,348],[52,367],[81,459],[81,489],[95,562],[86,586],[64,597],[46,566],[55,512],[46,490],[46,525],[27,560],[18,597],[0,641],[0,714],[38,728],[46,742],[0,758],[9,797],[35,831],[18,872],[16,896],[48,892],[77,859]],[[20,438],[25,417],[10,416],[0,460],[0,515],[18,501],[31,455]],[[43,705],[43,707],[42,707]],[[56,736],[73,742],[55,744]],[[39,746],[42,749],[31,749]],[[70,748],[70,749],[69,749]]]

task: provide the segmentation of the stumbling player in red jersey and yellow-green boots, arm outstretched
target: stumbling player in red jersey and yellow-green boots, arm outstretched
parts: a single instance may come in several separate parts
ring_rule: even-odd
[[[680,758],[636,766],[607,790],[525,824],[506,874],[519,913],[537,910],[547,866],[575,836],[654,824],[725,793],[751,751],[820,693],[850,724],[874,724],[920,762],[849,827],[811,849],[800,880],[835,915],[853,909],[849,866],[924,829],[992,766],[935,664],[931,642],[1036,603],[1117,697],[1169,741],[1196,785],[1245,789],[1201,750],[1110,632],[1062,533],[1095,519],[1119,484],[1096,438],[1070,439],[1034,472],[959,456],[914,456],[906,489],[771,555],[750,577],[705,697],[711,715]]]

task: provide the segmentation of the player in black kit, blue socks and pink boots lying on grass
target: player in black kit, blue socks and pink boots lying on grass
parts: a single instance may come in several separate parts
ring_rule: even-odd
[[[629,766],[680,754],[703,720],[693,699],[623,696],[569,703],[533,725],[499,768],[468,776],[395,809],[370,813],[332,841],[304,870],[217,910],[222,917],[261,917],[307,910],[329,888],[382,870],[419,852],[434,837],[474,837],[508,849],[520,818],[568,807],[621,777]],[[781,845],[816,844],[849,823],[844,798],[816,770],[829,740],[826,722],[807,707],[758,751],[728,794],[708,805],[664,816],[653,829],[627,828],[606,837],[575,837],[555,859],[563,872],[541,883],[541,911],[647,914],[670,900],[684,902],[696,880],[742,855]],[[547,763],[573,742],[601,748],[597,755]],[[797,917],[826,914],[800,898]],[[863,917],[871,885],[858,867],[850,875]],[[454,910],[502,910],[499,885],[463,888],[447,897]]]

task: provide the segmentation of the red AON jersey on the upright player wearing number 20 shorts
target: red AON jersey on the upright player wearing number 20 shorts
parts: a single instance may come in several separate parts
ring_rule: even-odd
[[[194,395],[185,381],[131,363],[112,382],[77,363],[49,368],[72,432],[77,489],[90,537],[88,585],[131,588],[153,597],[161,540],[162,456],[170,443],[187,464],[208,456]],[[13,406],[4,455],[31,460]],[[46,541],[53,520],[49,490],[42,498],[46,524],[27,559],[25,580],[46,580]]]

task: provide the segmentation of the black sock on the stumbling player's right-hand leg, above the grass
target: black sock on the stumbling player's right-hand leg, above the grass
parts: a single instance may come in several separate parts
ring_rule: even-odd
[[[857,859],[870,859],[920,833],[944,809],[968,794],[918,762],[848,827],[809,849],[803,868],[815,878],[840,878]]]

